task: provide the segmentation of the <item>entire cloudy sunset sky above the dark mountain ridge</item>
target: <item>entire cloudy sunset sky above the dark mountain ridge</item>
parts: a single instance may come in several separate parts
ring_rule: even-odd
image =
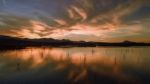
[[[150,0],[0,0],[0,35],[150,42]]]

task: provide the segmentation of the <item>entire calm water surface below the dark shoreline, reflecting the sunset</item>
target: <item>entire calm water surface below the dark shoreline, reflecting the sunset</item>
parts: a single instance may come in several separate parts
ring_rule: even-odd
[[[150,84],[150,47],[0,51],[0,84]]]

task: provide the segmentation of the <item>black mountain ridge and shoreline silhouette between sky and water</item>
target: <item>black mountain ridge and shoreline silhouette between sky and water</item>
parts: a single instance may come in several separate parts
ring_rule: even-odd
[[[150,46],[150,43],[138,43],[132,41],[124,41],[118,43],[107,42],[85,42],[56,40],[52,38],[27,39],[0,35],[0,48],[23,48],[28,46],[53,46],[53,47],[96,47],[96,46]]]

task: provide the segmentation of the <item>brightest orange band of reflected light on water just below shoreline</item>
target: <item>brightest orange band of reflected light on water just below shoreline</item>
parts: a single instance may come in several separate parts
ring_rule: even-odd
[[[104,65],[105,67],[116,67],[119,68],[122,60],[118,59],[113,54],[111,56],[107,56],[107,52],[105,49],[95,49],[94,53],[91,48],[87,48],[86,50],[76,49],[61,49],[61,48],[27,48],[22,50],[9,51],[7,57],[9,59],[19,59],[24,62],[32,61],[31,67],[39,67],[44,65],[47,62],[53,63],[71,63],[76,66],[95,66],[95,65]],[[129,62],[139,62],[135,58],[131,58],[132,61]],[[120,61],[118,61],[120,60]],[[116,67],[115,67],[116,66]]]

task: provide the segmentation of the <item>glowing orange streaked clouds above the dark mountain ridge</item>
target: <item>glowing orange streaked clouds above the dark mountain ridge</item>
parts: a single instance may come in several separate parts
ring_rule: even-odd
[[[107,39],[113,37],[114,34],[114,36],[119,37],[141,33],[142,25],[125,24],[122,18],[137,11],[145,3],[143,0],[131,0],[128,3],[117,4],[107,11],[97,11],[92,0],[76,0],[76,2],[77,4],[66,6],[65,18],[48,18],[50,22],[47,24],[42,20],[30,20],[30,26],[20,27],[19,30],[12,29],[13,35],[15,32],[16,36],[25,38],[59,39],[70,35],[91,35],[98,39]],[[97,2],[102,7],[112,4],[112,0],[99,0]]]

